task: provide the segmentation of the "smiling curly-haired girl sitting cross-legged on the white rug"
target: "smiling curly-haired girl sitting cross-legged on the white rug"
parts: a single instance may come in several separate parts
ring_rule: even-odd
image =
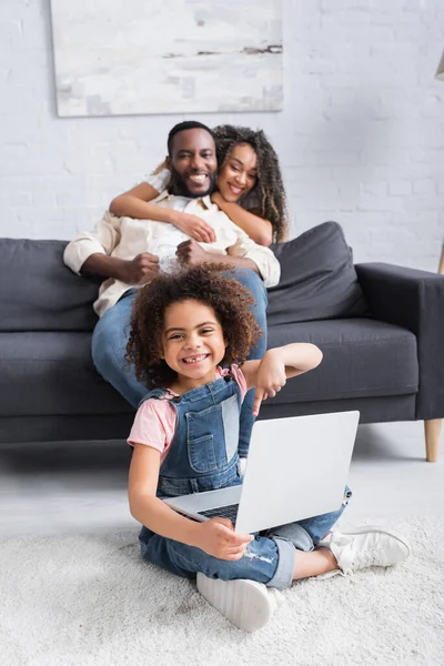
[[[251,301],[221,266],[162,274],[137,296],[127,347],[138,380],[150,390],[128,440],[129,502],[144,525],[142,555],[179,576],[196,577],[201,594],[245,630],[270,619],[279,601],[273,588],[389,566],[410,553],[404,539],[379,527],[327,534],[350,492],[337,512],[261,535],[236,534],[225,518],[194,522],[161,501],[242,483],[238,435],[245,392],[255,387],[256,415],[262,400],[321,362],[321,351],[309,343],[244,361],[261,334]]]

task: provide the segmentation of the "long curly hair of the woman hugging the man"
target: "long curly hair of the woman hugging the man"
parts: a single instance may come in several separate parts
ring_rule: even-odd
[[[258,194],[260,218],[270,220],[273,226],[273,241],[280,243],[286,239],[287,210],[285,188],[282,181],[279,158],[262,130],[236,125],[218,125],[213,130],[219,169],[225,162],[235,145],[249,143],[258,155]],[[250,194],[250,193],[249,193]]]

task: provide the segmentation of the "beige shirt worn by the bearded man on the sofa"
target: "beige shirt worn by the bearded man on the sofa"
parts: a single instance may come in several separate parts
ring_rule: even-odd
[[[152,201],[158,205],[173,208],[174,195],[167,191]],[[215,231],[214,243],[200,243],[208,252],[229,254],[253,261],[265,286],[274,286],[281,276],[281,266],[269,248],[258,245],[230,218],[221,211],[210,196],[191,199],[184,212],[199,215]],[[162,236],[168,235],[171,225],[155,220],[133,220],[117,218],[107,212],[91,232],[83,232],[71,241],[64,250],[64,263],[80,274],[80,269],[91,254],[108,254],[118,259],[132,260],[141,252],[154,254]],[[99,290],[94,311],[99,316],[114,305],[120,296],[131,286],[113,278],[105,280]]]

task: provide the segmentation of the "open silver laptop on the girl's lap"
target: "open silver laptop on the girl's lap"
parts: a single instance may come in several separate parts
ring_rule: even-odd
[[[230,517],[250,534],[341,507],[359,412],[256,421],[241,485],[165,504],[196,521]]]

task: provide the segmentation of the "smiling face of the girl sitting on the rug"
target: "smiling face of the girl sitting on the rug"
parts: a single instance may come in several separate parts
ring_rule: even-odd
[[[162,357],[178,373],[171,389],[179,392],[214,382],[226,346],[214,310],[193,299],[167,307],[162,345]]]

